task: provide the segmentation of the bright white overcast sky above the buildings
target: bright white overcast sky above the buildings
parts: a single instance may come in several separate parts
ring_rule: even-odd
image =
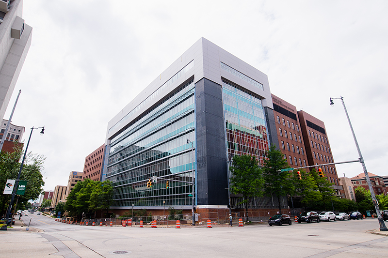
[[[24,0],[32,45],[4,119],[43,154],[45,190],[83,171],[108,121],[200,37],[268,75],[271,92],[325,123],[334,160],[388,175],[387,1]],[[362,173],[359,163],[338,175]]]

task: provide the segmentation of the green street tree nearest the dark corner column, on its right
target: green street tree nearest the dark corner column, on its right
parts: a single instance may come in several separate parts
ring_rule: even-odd
[[[248,202],[250,197],[263,195],[263,179],[256,157],[249,155],[233,157],[230,167],[230,190],[234,194],[242,194],[241,204],[245,204],[246,221],[248,221]]]

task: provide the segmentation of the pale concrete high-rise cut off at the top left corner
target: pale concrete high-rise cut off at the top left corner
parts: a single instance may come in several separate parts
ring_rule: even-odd
[[[31,46],[32,27],[22,18],[23,0],[0,0],[0,119]]]

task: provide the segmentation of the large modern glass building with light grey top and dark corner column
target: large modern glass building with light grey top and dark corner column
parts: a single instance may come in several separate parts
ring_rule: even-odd
[[[261,162],[271,143],[267,76],[201,38],[108,123],[111,208],[188,210],[194,192],[197,211],[226,209],[227,161],[251,154]]]

